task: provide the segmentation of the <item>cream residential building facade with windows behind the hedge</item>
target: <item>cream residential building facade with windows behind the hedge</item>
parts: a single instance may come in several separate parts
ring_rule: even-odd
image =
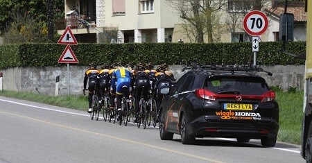
[[[65,0],[64,3],[66,24],[71,26],[78,42],[192,42],[193,39],[183,30],[181,12],[167,0]],[[300,10],[296,8],[302,10],[302,3],[304,6],[304,2],[288,6],[288,12],[295,14],[295,40],[304,41],[306,17],[296,12]],[[243,18],[255,8],[254,1],[224,0],[214,8],[217,10],[213,15],[213,42],[251,42],[252,37],[243,29]],[[261,10],[269,19],[261,41],[278,41],[283,4],[262,0]],[[60,35],[63,32],[58,31]],[[204,41],[207,42],[207,35]]]

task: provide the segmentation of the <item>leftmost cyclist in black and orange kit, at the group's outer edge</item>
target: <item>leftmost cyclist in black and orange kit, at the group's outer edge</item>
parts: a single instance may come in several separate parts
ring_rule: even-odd
[[[85,71],[85,78],[83,80],[83,92],[85,92],[85,89],[87,87],[88,83],[88,90],[89,90],[89,96],[88,96],[88,101],[89,101],[89,110],[87,112],[91,113],[93,112],[92,108],[92,96],[94,94],[94,89],[96,90],[96,94],[98,95],[98,98],[101,98],[101,90],[100,90],[100,80],[101,76],[99,76],[100,71],[96,69],[96,63],[91,62],[89,64],[89,69]]]

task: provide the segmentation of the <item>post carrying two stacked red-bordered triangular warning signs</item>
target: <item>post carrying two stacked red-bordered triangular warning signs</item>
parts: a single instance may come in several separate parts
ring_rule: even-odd
[[[67,44],[66,48],[64,49],[62,55],[58,59],[58,63],[67,63],[67,95],[69,95],[69,63],[78,63],[78,60],[76,58],[76,55],[73,53],[73,50],[71,49],[71,46],[69,44],[78,44],[75,36],[71,32],[71,28],[67,26],[64,33],[58,40],[58,44]]]

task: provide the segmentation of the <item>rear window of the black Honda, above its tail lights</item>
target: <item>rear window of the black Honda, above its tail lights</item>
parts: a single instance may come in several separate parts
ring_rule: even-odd
[[[265,80],[254,77],[208,78],[205,82],[205,88],[218,94],[260,95],[270,90]]]

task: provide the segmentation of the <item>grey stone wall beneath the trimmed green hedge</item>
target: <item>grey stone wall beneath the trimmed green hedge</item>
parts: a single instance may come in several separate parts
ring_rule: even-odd
[[[0,70],[3,73],[2,88],[17,92],[54,95],[56,77],[60,76],[58,94],[83,94],[83,77],[87,68],[69,65],[69,78],[67,66],[65,65],[62,67],[14,67],[3,69]],[[181,71],[182,67],[180,65],[170,65],[169,69],[173,71],[176,79],[185,74],[185,71]],[[288,87],[304,88],[304,65],[264,66],[263,69],[273,74],[268,76],[266,73],[259,73],[259,76],[266,79],[268,85],[279,85],[282,89],[288,89]]]

